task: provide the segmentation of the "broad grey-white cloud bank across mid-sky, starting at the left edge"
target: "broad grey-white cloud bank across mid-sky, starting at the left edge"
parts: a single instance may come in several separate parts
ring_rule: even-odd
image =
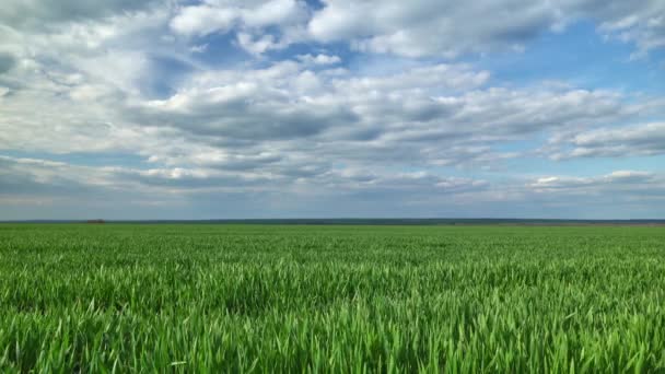
[[[359,75],[292,60],[195,70],[173,95],[152,100],[138,89],[149,70],[138,63],[142,56],[107,50],[74,58],[75,72],[26,75],[32,86],[3,98],[0,124],[13,130],[0,133],[0,148],[130,152],[171,167],[311,177],[336,162],[488,167],[520,155],[498,144],[617,122],[642,109],[610,91],[489,86],[490,73],[468,65]],[[39,115],[36,102],[48,103]]]

